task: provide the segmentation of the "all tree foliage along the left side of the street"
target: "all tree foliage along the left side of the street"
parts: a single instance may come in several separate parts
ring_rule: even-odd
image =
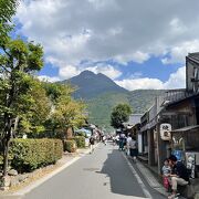
[[[43,49],[9,36],[18,0],[0,1],[0,153],[7,175],[9,143],[19,133],[39,134],[49,128],[84,123],[83,102],[74,101],[70,85],[41,83],[34,74],[43,66]],[[49,122],[49,123],[48,123]]]

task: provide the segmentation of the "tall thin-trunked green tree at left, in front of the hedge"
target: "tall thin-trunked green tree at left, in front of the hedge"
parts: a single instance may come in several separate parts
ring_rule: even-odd
[[[33,103],[28,93],[32,87],[32,73],[43,66],[43,49],[33,42],[7,36],[0,43],[0,116],[2,119],[1,145],[3,176],[7,175],[10,138],[19,118]]]

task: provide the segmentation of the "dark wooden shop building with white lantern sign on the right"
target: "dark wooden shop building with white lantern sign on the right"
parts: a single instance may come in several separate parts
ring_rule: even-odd
[[[187,154],[199,167],[199,53],[186,57],[186,88],[166,91],[142,116],[139,154],[160,174],[164,159],[175,154],[187,163]],[[138,137],[139,137],[138,136]]]

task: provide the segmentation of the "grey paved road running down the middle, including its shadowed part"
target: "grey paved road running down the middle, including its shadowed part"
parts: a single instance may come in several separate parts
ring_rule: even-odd
[[[144,181],[144,184],[143,184]],[[163,199],[130,168],[122,151],[101,144],[50,180],[33,189],[24,199]]]

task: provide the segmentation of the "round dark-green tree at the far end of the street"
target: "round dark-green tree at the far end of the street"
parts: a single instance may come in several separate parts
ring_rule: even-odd
[[[111,115],[111,125],[114,128],[121,128],[123,123],[128,121],[130,114],[132,108],[128,104],[118,104],[113,108]]]

